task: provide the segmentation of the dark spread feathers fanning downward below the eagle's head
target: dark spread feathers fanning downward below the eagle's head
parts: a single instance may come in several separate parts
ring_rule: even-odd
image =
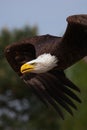
[[[58,71],[57,71],[58,73]],[[25,74],[26,75],[26,74]],[[34,89],[35,94],[42,100],[44,104],[50,103],[59,115],[64,119],[64,116],[60,110],[62,106],[67,112],[73,115],[71,107],[77,110],[76,105],[71,100],[74,99],[77,102],[81,102],[78,96],[70,90],[63,82],[53,75],[53,73],[38,74],[30,80],[30,78],[23,77],[26,80],[26,84]],[[76,90],[77,91],[77,90]],[[71,106],[71,107],[70,107]]]

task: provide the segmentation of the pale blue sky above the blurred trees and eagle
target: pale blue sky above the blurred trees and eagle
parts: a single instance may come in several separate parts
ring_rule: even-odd
[[[87,0],[0,0],[0,30],[37,25],[40,35],[59,36],[74,14],[87,14]]]

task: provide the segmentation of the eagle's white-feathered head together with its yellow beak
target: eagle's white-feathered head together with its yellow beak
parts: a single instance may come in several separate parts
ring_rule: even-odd
[[[50,53],[44,53],[36,59],[26,62],[20,68],[21,73],[45,73],[57,66],[58,59]]]

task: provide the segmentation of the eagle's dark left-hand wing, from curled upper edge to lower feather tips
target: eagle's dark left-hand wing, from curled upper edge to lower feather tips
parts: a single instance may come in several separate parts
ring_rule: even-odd
[[[35,92],[35,94],[48,106],[51,104],[64,119],[62,106],[73,115],[72,108],[77,109],[74,100],[81,102],[74,91],[80,92],[63,71],[52,70],[44,74],[20,73],[20,66],[35,58],[35,48],[28,43],[12,44],[5,49],[5,56],[15,72]],[[74,91],[73,91],[74,90]]]

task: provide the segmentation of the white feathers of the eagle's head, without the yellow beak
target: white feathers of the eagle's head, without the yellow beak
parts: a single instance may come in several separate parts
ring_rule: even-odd
[[[27,62],[26,64],[35,64],[32,73],[45,73],[57,66],[58,59],[50,53],[44,53],[37,59]]]

